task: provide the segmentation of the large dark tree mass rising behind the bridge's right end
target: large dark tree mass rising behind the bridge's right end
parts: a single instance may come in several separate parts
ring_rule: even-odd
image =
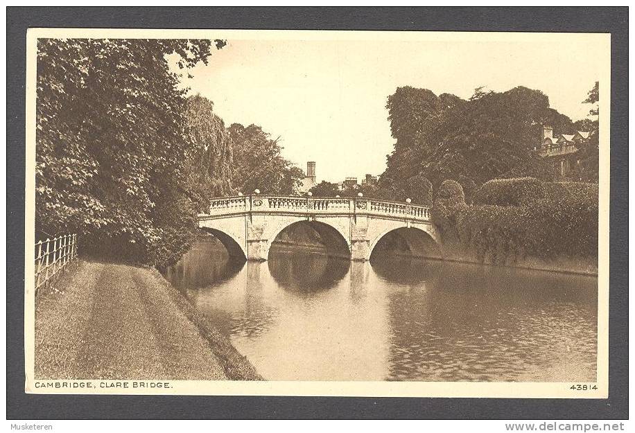
[[[399,191],[415,175],[438,186],[444,179],[482,184],[503,175],[553,177],[534,154],[539,125],[574,131],[571,119],[549,107],[541,91],[516,87],[502,93],[476,89],[470,100],[400,87],[388,97],[392,135],[381,182]]]

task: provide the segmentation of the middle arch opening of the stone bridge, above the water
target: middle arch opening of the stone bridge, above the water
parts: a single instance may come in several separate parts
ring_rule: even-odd
[[[279,224],[269,233],[267,258],[272,247],[294,242],[319,242],[327,256],[334,258],[351,258],[351,247],[348,236],[342,233],[335,224],[324,221],[297,218],[285,224]]]

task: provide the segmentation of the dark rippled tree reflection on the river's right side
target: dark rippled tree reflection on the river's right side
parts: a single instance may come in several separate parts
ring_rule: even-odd
[[[373,269],[392,287],[389,380],[595,380],[594,278],[435,261]]]

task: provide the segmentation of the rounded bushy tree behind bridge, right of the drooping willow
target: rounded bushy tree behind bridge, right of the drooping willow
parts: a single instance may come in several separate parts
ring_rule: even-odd
[[[282,157],[277,139],[270,139],[257,125],[234,123],[228,130],[234,143],[234,188],[243,193],[259,189],[263,194],[289,195],[297,191],[304,172]]]

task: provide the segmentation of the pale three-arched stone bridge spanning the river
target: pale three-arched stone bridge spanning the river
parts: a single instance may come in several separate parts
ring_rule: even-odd
[[[211,200],[199,227],[223,242],[231,256],[267,260],[283,231],[304,224],[317,232],[327,254],[369,260],[381,242],[412,256],[440,256],[430,209],[365,197],[320,198],[246,195]]]

